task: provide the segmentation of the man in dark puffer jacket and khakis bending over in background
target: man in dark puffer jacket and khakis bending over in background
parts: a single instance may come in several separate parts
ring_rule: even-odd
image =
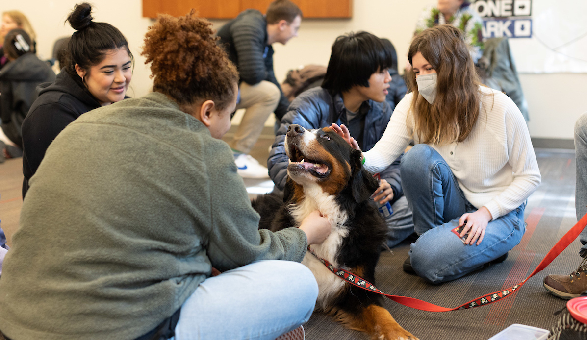
[[[286,44],[298,36],[302,11],[289,0],[275,0],[266,16],[247,9],[218,30],[218,43],[237,65],[240,85],[239,108],[246,108],[230,147],[238,174],[244,178],[268,178],[267,168],[249,154],[265,121],[275,112],[276,121],[286,113],[289,101],[275,79],[273,43]]]

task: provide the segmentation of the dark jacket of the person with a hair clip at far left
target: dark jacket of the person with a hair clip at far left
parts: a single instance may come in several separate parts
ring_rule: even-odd
[[[35,101],[35,88],[55,80],[49,65],[25,53],[7,63],[0,71],[0,118],[4,134],[16,145],[22,145],[22,121]]]

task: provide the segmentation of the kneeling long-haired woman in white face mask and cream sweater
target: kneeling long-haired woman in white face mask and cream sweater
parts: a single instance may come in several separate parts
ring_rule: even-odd
[[[525,232],[526,200],[541,175],[524,117],[505,94],[479,83],[461,30],[424,30],[408,59],[411,93],[364,153],[365,167],[377,172],[416,143],[401,165],[420,236],[404,270],[441,283],[505,260]],[[335,128],[358,149],[346,127]],[[453,232],[459,227],[468,234],[462,241]]]

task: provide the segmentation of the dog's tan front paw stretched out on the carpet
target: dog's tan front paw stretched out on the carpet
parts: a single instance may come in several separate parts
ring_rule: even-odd
[[[402,328],[385,308],[377,305],[367,306],[360,315],[350,315],[338,310],[338,321],[355,331],[363,331],[374,340],[418,340],[416,336]]]

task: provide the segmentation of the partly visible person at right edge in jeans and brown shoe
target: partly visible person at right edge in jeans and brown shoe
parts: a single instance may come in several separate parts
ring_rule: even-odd
[[[575,122],[576,182],[575,212],[577,220],[587,213],[587,112]],[[553,295],[569,300],[587,291],[587,228],[579,235],[581,263],[568,275],[549,275],[544,288]],[[582,280],[581,280],[582,279]]]

